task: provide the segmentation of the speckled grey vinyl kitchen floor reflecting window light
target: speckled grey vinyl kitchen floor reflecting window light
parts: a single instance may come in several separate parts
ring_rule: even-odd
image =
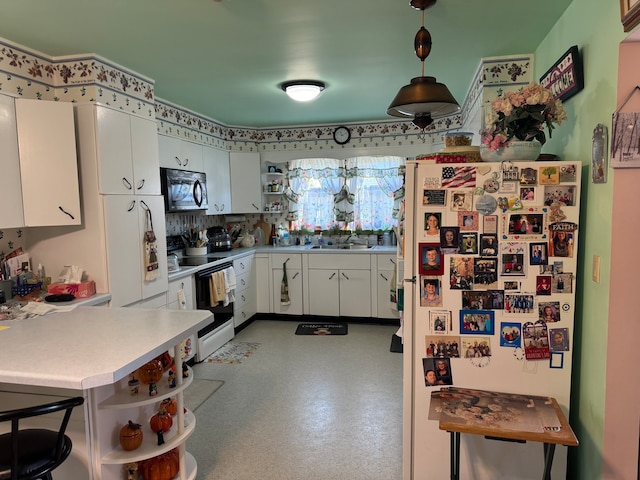
[[[187,450],[199,480],[393,480],[402,477],[402,355],[397,327],[295,335],[256,320],[234,341],[260,346],[240,364],[203,362],[224,385],[196,412]]]

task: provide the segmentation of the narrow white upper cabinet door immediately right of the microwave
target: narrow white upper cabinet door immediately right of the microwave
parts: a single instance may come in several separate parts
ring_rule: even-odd
[[[207,175],[207,215],[231,213],[231,171],[229,152],[202,147],[204,173]]]

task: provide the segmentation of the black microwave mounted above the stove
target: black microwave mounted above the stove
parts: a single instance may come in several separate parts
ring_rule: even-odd
[[[203,172],[160,168],[167,212],[207,209],[207,178]]]

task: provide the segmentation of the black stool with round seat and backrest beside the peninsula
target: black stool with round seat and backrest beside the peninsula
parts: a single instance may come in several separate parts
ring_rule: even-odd
[[[71,439],[65,435],[71,411],[83,402],[84,398],[75,397],[0,412],[0,423],[11,422],[11,432],[0,435],[0,480],[52,480],[51,471],[71,453]],[[58,431],[19,428],[22,419],[62,410],[65,413]]]

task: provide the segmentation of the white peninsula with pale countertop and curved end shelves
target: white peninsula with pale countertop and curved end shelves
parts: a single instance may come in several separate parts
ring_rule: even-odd
[[[145,388],[130,396],[127,380],[129,374],[167,350],[179,354],[180,341],[210,322],[207,310],[110,307],[77,307],[65,313],[0,322],[0,327],[8,327],[0,330],[2,410],[84,397],[84,405],[74,410],[67,429],[73,450],[54,471],[56,478],[124,478],[122,469],[130,460],[118,445],[117,432],[133,419],[146,424],[149,440],[140,453],[133,452],[131,461],[179,448],[181,473],[177,478],[192,480],[197,471],[195,460],[184,449],[195,428],[192,413],[184,413],[184,429],[181,427],[182,391],[190,378],[183,380],[179,375],[175,389],[159,384],[159,395],[153,397]],[[168,396],[178,398],[178,426],[165,435],[166,444],[159,447],[146,420]],[[50,428],[42,418],[31,426]],[[4,431],[2,424],[0,432]]]

